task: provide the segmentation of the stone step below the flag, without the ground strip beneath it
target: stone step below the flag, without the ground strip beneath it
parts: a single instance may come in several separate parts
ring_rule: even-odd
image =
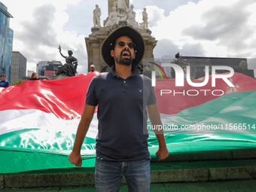
[[[212,182],[256,179],[256,151],[171,154],[151,160],[151,183]],[[125,184],[125,179],[122,181]],[[94,168],[44,169],[0,175],[0,189],[93,187]]]

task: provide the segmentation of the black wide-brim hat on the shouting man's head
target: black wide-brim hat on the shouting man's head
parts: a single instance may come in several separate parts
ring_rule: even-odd
[[[145,53],[145,42],[142,35],[130,26],[121,26],[115,29],[102,43],[101,53],[102,59],[109,66],[114,65],[114,58],[111,56],[110,51],[113,49],[114,41],[120,36],[128,36],[132,39],[133,43],[136,44],[135,51],[136,57],[133,59],[133,65],[138,66],[142,62]]]

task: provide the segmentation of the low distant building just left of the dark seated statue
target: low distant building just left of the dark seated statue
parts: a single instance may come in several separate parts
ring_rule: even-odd
[[[50,79],[56,74],[59,66],[62,66],[60,61],[39,61],[36,64],[36,72],[38,76],[47,76]]]

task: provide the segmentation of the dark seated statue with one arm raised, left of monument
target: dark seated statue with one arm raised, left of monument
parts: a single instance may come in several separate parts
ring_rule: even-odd
[[[66,63],[64,64],[64,66],[59,66],[56,75],[65,74],[68,76],[75,76],[78,67],[78,59],[72,56],[72,50],[68,50],[69,56],[63,56],[61,53],[61,47],[59,45],[59,53],[62,57],[66,59]]]

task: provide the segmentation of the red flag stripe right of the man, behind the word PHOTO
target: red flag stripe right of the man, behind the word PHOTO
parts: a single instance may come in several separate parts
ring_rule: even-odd
[[[228,78],[235,87],[229,87],[222,79],[216,79],[216,87],[212,87],[212,75],[209,75],[209,82],[203,87],[192,87],[184,81],[184,87],[175,87],[175,79],[157,81],[154,87],[157,96],[157,106],[161,114],[177,114],[178,112],[197,105],[202,105],[220,96],[215,90],[222,90],[224,94],[236,93],[248,90],[256,90],[256,80],[246,75],[235,73]],[[203,82],[203,79],[192,80],[194,83]],[[163,90],[166,90],[163,93]],[[169,93],[171,91],[171,93]],[[162,92],[162,96],[161,96]],[[196,95],[197,96],[190,96]]]

